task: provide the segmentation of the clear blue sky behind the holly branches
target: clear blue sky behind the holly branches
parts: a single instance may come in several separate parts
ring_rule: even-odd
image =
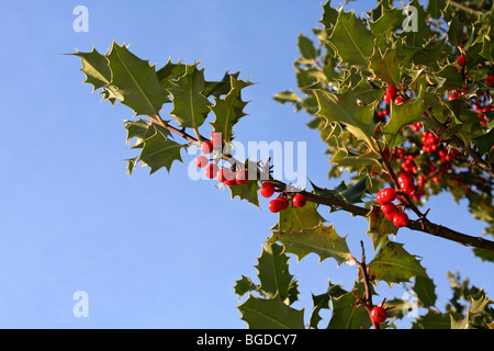
[[[89,32],[76,33],[72,10],[89,10]],[[350,2],[357,13],[369,1]],[[211,182],[193,182],[187,167],[148,176],[125,173],[123,106],[100,103],[82,84],[76,57],[60,54],[115,39],[142,58],[164,65],[169,57],[202,61],[206,79],[242,70],[258,84],[245,90],[249,116],[238,140],[307,143],[307,173],[322,186],[327,156],[310,117],[272,101],[295,89],[296,37],[318,25],[317,0],[299,1],[0,1],[0,328],[245,328],[233,286],[255,278],[261,244],[277,218]],[[186,165],[191,160],[184,156]],[[430,201],[430,218],[480,234],[448,195]],[[367,222],[341,213],[326,216],[348,235],[353,254]],[[469,275],[494,295],[493,265],[469,249],[420,233],[401,230],[397,240],[422,256],[440,286],[439,307],[450,297],[446,271]],[[307,257],[291,270],[302,301],[325,292],[327,280],[349,288],[350,267]],[[76,291],[89,296],[89,317],[76,318]],[[392,297],[383,284],[382,296]],[[406,326],[406,324],[404,324]]]

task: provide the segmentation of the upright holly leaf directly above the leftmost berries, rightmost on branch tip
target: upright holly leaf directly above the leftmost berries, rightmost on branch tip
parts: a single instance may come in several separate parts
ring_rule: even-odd
[[[246,115],[244,107],[247,102],[242,100],[242,89],[251,86],[249,81],[243,81],[231,76],[232,89],[223,99],[214,99],[214,105],[211,106],[216,116],[215,121],[211,123],[214,132],[221,133],[223,140],[228,143],[233,137],[233,126]]]

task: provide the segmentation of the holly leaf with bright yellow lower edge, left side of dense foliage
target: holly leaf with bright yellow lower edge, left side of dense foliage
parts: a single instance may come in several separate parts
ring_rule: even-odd
[[[325,90],[315,90],[314,93],[319,105],[317,115],[328,124],[336,122],[345,126],[356,138],[370,144],[377,127],[371,107],[358,105],[351,90],[340,95]]]

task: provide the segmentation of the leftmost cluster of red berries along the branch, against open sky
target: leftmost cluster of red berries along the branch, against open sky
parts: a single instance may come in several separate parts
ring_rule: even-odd
[[[205,155],[212,154],[215,147],[222,146],[222,139],[220,133],[213,133],[211,140],[206,140],[201,145],[201,151]],[[209,179],[216,178],[225,185],[233,186],[235,184],[245,184],[248,182],[248,171],[244,167],[238,167],[238,170],[220,168],[216,163],[210,162],[210,159],[204,155],[200,155],[195,158],[195,166],[199,168],[205,168],[204,174]]]

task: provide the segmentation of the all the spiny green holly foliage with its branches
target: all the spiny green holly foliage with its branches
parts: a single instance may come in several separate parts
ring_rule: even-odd
[[[256,206],[261,184],[271,183],[279,193],[273,200],[279,207],[270,207],[278,220],[256,265],[258,281],[242,275],[234,287],[240,298],[247,296],[238,309],[249,328],[393,328],[412,305],[403,298],[382,302],[389,318],[373,320],[372,295],[381,282],[403,285],[416,297],[412,308],[426,308],[413,328],[493,328],[493,302],[482,288],[452,273],[453,297],[440,312],[436,285],[420,258],[396,241],[405,226],[471,246],[475,256],[494,262],[492,11],[490,1],[480,0],[429,1],[427,7],[414,0],[405,9],[381,0],[362,16],[332,7],[330,1],[322,7],[312,36],[299,36],[297,91],[285,90],[273,99],[312,116],[307,127],[318,131],[327,146],[329,179],[349,174],[335,189],[311,183],[310,189],[296,190],[272,177],[269,160],[251,162],[231,155],[236,124],[246,116],[242,93],[252,84],[239,79],[239,72],[207,81],[198,63],[168,60],[157,69],[115,42],[105,54],[93,48],[71,55],[81,60],[85,82],[103,101],[122,103],[134,113],[124,121],[126,141],[137,151],[126,160],[130,174],[138,163],[150,173],[171,171],[175,161],[183,161],[183,150],[210,140],[201,134],[209,123],[213,135],[221,136],[212,144],[209,178],[216,171],[222,177],[247,172],[245,182],[218,178],[220,183],[229,188],[232,197]],[[165,106],[170,111],[166,117]],[[412,176],[413,186],[402,183],[403,173]],[[391,214],[384,212],[390,201],[379,199],[386,186],[396,192],[391,201],[397,201],[397,210]],[[468,201],[471,215],[485,223],[483,236],[427,218],[422,208],[440,192]],[[304,196],[296,204],[295,194]],[[325,206],[368,218],[362,240],[372,242],[370,260],[363,245],[360,259],[360,252],[350,252],[338,223],[327,224],[322,215]],[[411,218],[396,222],[398,212]],[[329,282],[325,293],[313,295],[310,318],[304,320],[305,309],[294,307],[299,282],[289,261],[311,253],[319,261],[355,265],[357,274],[350,291]],[[324,325],[323,309],[332,316]]]

